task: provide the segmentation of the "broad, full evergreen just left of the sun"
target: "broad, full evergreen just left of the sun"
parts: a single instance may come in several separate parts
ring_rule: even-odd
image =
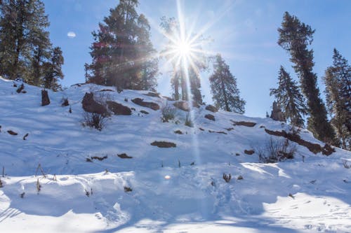
[[[93,31],[89,82],[114,85],[118,90],[156,87],[158,73],[155,50],[150,41],[150,24],[138,15],[138,0],[121,0]]]

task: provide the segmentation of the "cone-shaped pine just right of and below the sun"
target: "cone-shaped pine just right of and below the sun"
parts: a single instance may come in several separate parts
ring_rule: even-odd
[[[245,101],[239,97],[237,79],[230,73],[229,66],[225,64],[220,55],[216,55],[211,75],[211,91],[213,101],[219,108],[234,113],[244,113]]]

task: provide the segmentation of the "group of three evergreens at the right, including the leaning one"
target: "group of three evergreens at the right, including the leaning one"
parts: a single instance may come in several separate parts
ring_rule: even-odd
[[[313,50],[308,48],[314,29],[286,12],[278,32],[278,44],[289,53],[300,80],[298,85],[284,67],[280,67],[278,87],[272,88],[270,94],[276,98],[284,117],[291,125],[303,127],[305,116],[307,129],[314,137],[351,150],[351,66],[347,59],[333,50],[333,65],[323,77],[326,108],[317,87],[317,74],[313,72]]]

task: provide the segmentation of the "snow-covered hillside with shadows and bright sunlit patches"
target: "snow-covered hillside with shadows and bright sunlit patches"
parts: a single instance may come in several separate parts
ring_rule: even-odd
[[[74,85],[48,91],[51,104],[41,106],[38,87],[17,88],[0,78],[0,232],[351,232],[349,152],[326,156],[290,142],[293,160],[259,163],[271,139],[284,141],[266,129],[289,132],[289,125],[200,106],[187,127],[185,111],[162,122],[160,110],[131,101],[173,104],[145,91]],[[133,108],[132,115],[112,115],[102,131],[83,127],[86,92]],[[70,106],[61,106],[62,97]],[[300,138],[324,146],[305,129]],[[232,175],[229,183],[223,173]]]

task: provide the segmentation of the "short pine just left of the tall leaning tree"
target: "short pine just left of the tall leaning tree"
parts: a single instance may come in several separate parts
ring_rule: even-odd
[[[303,116],[307,114],[305,100],[300,93],[298,84],[291,79],[283,66],[280,66],[278,87],[272,88],[270,95],[277,99],[279,108],[282,109],[284,116],[291,122],[291,125],[303,127]]]

